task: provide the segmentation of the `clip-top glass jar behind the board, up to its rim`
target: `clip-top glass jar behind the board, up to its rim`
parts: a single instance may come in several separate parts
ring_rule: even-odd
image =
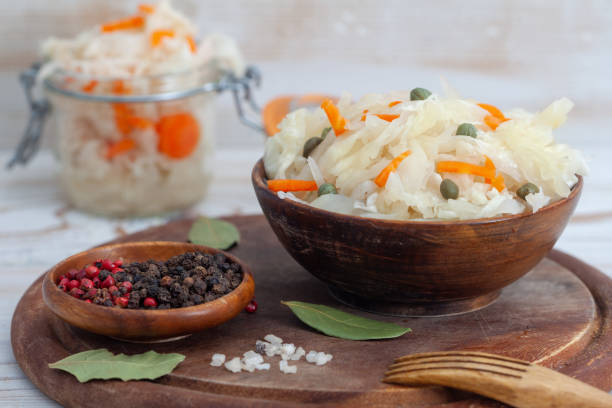
[[[216,94],[234,92],[246,120],[239,95],[244,91],[251,101],[249,84],[258,79],[254,68],[236,78],[213,65],[149,77],[46,75],[43,102],[52,108],[54,151],[68,200],[111,216],[147,216],[197,203],[211,180]]]

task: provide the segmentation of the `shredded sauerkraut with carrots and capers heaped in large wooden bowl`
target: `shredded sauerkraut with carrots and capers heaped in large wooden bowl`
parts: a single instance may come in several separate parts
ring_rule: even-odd
[[[536,212],[587,172],[555,143],[572,102],[502,112],[456,96],[345,94],[287,115],[266,141],[268,188],[343,214],[392,220],[469,220]]]

